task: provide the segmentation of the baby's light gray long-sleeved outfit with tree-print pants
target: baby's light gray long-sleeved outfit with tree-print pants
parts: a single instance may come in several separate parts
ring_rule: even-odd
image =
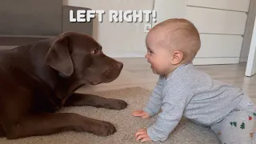
[[[162,112],[159,112],[159,110]],[[216,81],[192,63],[179,66],[167,78],[159,76],[144,111],[158,114],[147,134],[165,141],[182,116],[201,126],[210,126],[224,144],[256,143],[254,103],[237,87]]]

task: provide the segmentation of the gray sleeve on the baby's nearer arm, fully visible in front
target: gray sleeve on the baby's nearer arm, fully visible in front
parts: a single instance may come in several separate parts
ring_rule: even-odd
[[[163,94],[162,112],[158,114],[157,122],[147,129],[147,134],[153,141],[165,141],[180,122],[186,102],[192,95],[186,86],[166,86]]]

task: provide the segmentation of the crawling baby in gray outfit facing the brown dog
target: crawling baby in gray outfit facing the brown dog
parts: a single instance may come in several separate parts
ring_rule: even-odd
[[[158,118],[154,125],[138,130],[137,141],[165,141],[184,116],[209,126],[223,144],[256,143],[256,113],[250,98],[193,66],[201,47],[194,24],[182,18],[161,22],[146,36],[146,46],[146,58],[159,78],[145,108],[133,115],[150,118],[158,114]]]

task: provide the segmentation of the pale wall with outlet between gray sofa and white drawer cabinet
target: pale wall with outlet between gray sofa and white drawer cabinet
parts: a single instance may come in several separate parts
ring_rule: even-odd
[[[64,0],[63,5],[105,10],[103,22],[94,19],[94,38],[103,51],[114,57],[142,56],[146,53],[144,25],[146,22],[109,22],[109,10],[152,10],[153,0]],[[105,19],[104,19],[105,18]]]

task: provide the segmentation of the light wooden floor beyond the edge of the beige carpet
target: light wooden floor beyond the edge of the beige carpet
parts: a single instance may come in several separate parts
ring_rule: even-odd
[[[82,88],[78,92],[90,93],[102,90],[118,90],[132,86],[141,86],[148,90],[154,89],[158,75],[152,73],[150,64],[146,62],[146,58],[116,59],[124,63],[124,68],[114,82]],[[250,78],[245,76],[246,63],[196,67],[210,74],[216,80],[227,82],[241,88],[256,103],[256,76]]]

